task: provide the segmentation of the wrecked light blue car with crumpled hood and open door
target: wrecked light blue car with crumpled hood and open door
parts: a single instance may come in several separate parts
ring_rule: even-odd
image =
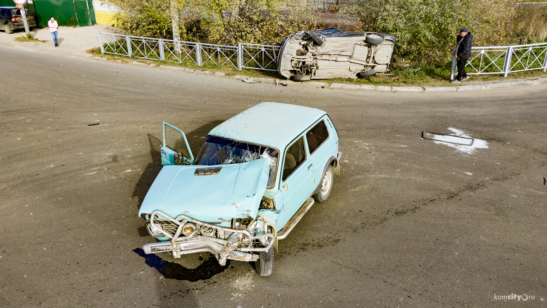
[[[338,134],[326,112],[263,102],[209,132],[193,156],[182,130],[164,122],[163,168],[139,216],[158,242],[144,252],[210,252],[274,268],[274,247],[340,174]]]

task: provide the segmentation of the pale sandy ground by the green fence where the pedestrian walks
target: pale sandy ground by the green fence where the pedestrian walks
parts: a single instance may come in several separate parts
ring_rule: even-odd
[[[12,34],[0,31],[0,45],[32,50],[34,52],[89,58],[90,54],[85,51],[94,47],[99,47],[97,32],[119,33],[119,29],[117,27],[104,25],[74,28],[59,27],[59,47],[54,46],[53,37],[51,37],[49,28],[35,29],[31,32],[34,38],[42,39],[47,42],[16,42],[14,40],[16,37],[25,35],[24,30],[16,30]]]

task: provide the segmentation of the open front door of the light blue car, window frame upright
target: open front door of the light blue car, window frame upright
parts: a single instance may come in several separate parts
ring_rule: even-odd
[[[182,130],[164,122],[164,145],[161,147],[161,163],[167,165],[192,164],[194,156]]]

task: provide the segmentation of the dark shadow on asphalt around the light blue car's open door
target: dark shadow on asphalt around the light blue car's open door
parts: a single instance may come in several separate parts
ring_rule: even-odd
[[[197,156],[197,153],[201,149],[201,145],[203,144],[203,140],[205,140],[207,133],[224,121],[224,119],[211,121],[191,132],[184,132],[188,140],[188,145],[190,145],[190,149],[193,150],[192,153],[194,157]],[[152,185],[152,182],[154,182],[154,179],[158,176],[158,173],[160,173],[162,167],[160,148],[163,144],[163,140],[156,138],[152,134],[148,134],[148,142],[150,144],[150,157],[152,158],[152,162],[148,163],[148,166],[144,169],[141,178],[138,179],[137,184],[135,185],[135,189],[133,189],[132,195],[132,198],[138,200],[138,209],[141,209],[144,197],[150,189],[150,185]]]

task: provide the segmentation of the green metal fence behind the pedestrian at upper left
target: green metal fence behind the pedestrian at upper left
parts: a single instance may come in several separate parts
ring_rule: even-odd
[[[13,0],[0,0],[0,7],[14,7]],[[60,26],[91,26],[97,24],[92,0],[34,0],[25,8],[36,16],[40,26],[48,26],[51,16]]]

